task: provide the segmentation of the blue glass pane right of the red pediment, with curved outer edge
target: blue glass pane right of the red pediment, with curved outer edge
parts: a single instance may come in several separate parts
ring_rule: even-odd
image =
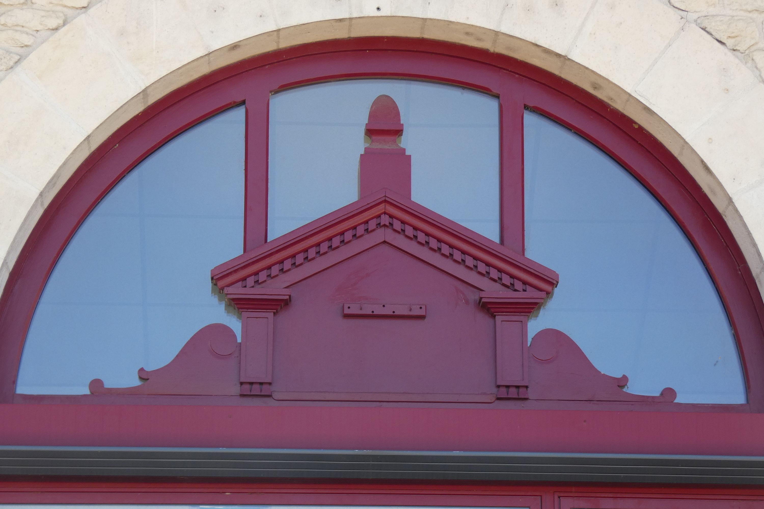
[[[735,339],[714,283],[662,205],[578,134],[525,114],[526,256],[560,284],[529,321],[567,333],[627,391],[745,403]]]

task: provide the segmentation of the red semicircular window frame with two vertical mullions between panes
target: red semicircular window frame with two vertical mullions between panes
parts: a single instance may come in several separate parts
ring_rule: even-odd
[[[358,60],[354,57],[357,50],[370,58]],[[617,159],[677,218],[704,259],[730,313],[743,352],[741,360],[749,391],[749,404],[743,405],[743,408],[756,411],[760,407],[761,401],[764,401],[761,396],[764,393],[759,391],[762,372],[755,366],[760,366],[764,358],[759,315],[764,308],[757,297],[753,277],[746,269],[743,255],[724,220],[665,147],[643,129],[634,128],[630,119],[533,66],[500,55],[433,41],[374,38],[290,48],[221,69],[173,92],[167,99],[157,101],[97,148],[53,198],[22,250],[19,263],[9,275],[8,285],[0,299],[0,400],[19,403],[74,402],[80,398],[90,398],[14,395],[14,377],[31,312],[50,267],[79,221],[125,172],[186,127],[246,101],[245,246],[250,250],[262,246],[267,198],[264,195],[267,187],[262,182],[267,175],[268,95],[309,82],[359,76],[432,79],[500,97],[502,243],[516,252],[522,252],[523,238],[522,143],[521,137],[517,136],[522,130],[523,108],[540,111],[561,124],[575,128],[579,134]],[[413,234],[413,227],[410,230]],[[332,240],[336,237],[338,235]],[[420,241],[427,242],[426,238]],[[448,242],[446,245],[458,250],[458,246],[450,246]],[[329,242],[326,243],[328,246]],[[464,255],[463,259],[469,260],[468,256]],[[480,263],[476,265],[478,270],[483,268]],[[490,264],[486,267],[490,275]],[[267,269],[273,272],[273,264]],[[268,279],[267,269],[261,269],[256,276],[250,276],[251,279]],[[496,275],[499,272],[497,268]],[[250,398],[249,401],[255,399]],[[510,400],[504,400],[507,401]],[[583,407],[587,407],[587,402],[581,401]],[[716,409],[714,411],[738,411],[736,406],[733,408],[730,405],[683,407],[697,411],[710,408]],[[640,405],[635,408],[650,407]]]

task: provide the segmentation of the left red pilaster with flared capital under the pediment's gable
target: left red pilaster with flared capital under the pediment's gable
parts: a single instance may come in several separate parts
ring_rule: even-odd
[[[242,396],[270,396],[274,366],[274,314],[289,304],[283,288],[225,288],[225,297],[241,311]]]

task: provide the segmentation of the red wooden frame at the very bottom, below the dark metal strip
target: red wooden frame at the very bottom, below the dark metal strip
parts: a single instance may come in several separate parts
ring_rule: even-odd
[[[761,509],[762,488],[620,485],[315,482],[0,481],[0,504],[274,504],[529,507],[529,509]]]

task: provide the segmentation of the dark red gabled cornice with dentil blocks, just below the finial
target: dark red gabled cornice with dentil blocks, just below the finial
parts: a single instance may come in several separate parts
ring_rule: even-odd
[[[212,269],[219,288],[287,288],[380,243],[475,288],[549,293],[558,275],[383,189]]]

